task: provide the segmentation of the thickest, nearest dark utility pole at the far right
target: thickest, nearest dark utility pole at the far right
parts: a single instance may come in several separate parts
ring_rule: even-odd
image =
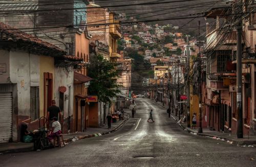
[[[238,8],[242,8],[239,1]],[[238,19],[241,17],[237,16]],[[237,137],[243,138],[243,102],[242,102],[242,20],[237,24]]]

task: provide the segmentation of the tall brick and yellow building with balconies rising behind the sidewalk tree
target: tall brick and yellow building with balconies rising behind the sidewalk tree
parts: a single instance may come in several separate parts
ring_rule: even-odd
[[[87,15],[88,22],[97,22],[99,26],[90,26],[89,33],[92,34],[91,42],[98,41],[105,46],[108,46],[108,54],[104,54],[104,58],[109,60],[111,63],[117,63],[117,59],[120,58],[120,54],[117,50],[117,40],[121,38],[120,23],[115,19],[115,13],[111,12],[107,8],[100,7],[94,2],[88,4]],[[95,7],[97,10],[95,10]],[[117,68],[116,68],[117,70]],[[117,78],[114,78],[117,79]],[[114,113],[117,109],[116,97],[113,97],[111,104],[105,104],[103,102],[97,102],[92,106],[94,112],[93,121],[91,121],[92,126],[100,127],[105,124],[105,116],[108,114],[106,112]],[[110,108],[107,108],[110,106]],[[99,114],[100,113],[100,114]]]

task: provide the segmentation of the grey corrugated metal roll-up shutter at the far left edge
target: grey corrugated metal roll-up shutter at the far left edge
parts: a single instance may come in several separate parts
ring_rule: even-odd
[[[0,143],[12,138],[12,93],[0,92]]]

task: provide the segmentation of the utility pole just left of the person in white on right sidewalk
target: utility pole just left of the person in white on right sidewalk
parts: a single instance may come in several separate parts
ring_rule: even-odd
[[[190,82],[189,82],[189,70],[190,70],[190,51],[189,51],[189,40],[187,35],[187,83],[186,83],[186,95],[187,95],[187,103],[185,103],[185,114],[187,116],[187,127],[190,128]]]

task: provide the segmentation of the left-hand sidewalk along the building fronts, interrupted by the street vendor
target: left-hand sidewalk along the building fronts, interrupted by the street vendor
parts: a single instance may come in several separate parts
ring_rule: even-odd
[[[70,134],[63,134],[65,143],[75,142],[82,138],[89,138],[100,136],[104,134],[112,133],[118,130],[130,117],[131,110],[129,108],[124,108],[124,120],[119,120],[111,124],[111,129],[108,129],[108,125],[105,125],[100,128],[87,128],[85,132],[77,132]],[[33,151],[33,143],[0,143],[0,154],[6,153],[17,153],[17,152],[27,152]]]

